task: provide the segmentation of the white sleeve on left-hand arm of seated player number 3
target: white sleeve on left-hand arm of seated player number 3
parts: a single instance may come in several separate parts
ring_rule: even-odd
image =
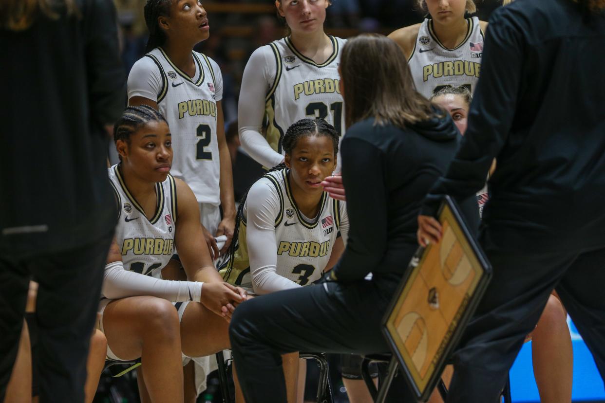
[[[260,179],[252,185],[244,213],[252,289],[259,295],[300,287],[277,274],[275,218],[280,207],[279,196],[269,179]]]

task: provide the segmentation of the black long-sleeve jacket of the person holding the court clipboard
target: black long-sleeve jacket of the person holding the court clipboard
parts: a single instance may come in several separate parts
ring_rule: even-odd
[[[571,0],[517,0],[490,19],[461,147],[425,200],[483,186],[484,246],[605,246],[605,15]]]

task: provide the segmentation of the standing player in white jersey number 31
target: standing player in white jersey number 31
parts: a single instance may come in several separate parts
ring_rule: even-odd
[[[329,5],[329,0],[275,1],[290,34],[255,50],[244,69],[240,141],[265,167],[284,161],[284,133],[302,118],[325,119],[344,134],[338,64],[345,40],[324,32]]]

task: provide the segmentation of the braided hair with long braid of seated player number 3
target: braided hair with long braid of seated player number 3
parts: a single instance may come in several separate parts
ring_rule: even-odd
[[[330,140],[332,140],[332,145],[334,147],[334,155],[338,153],[338,133],[336,132],[336,129],[334,128],[334,126],[332,126],[332,124],[327,123],[327,121],[323,119],[301,119],[296,123],[292,124],[292,126],[288,127],[288,130],[286,131],[286,134],[284,135],[281,141],[281,145],[284,149],[284,152],[286,152],[286,154],[288,155],[292,155],[292,152],[296,148],[296,144],[298,144],[298,140],[301,137],[310,136],[329,137]],[[263,176],[267,175],[267,173],[269,172],[282,170],[285,167],[286,164],[284,163],[278,164],[273,168],[269,169],[266,173],[263,174]],[[263,178],[263,176],[258,179]],[[256,183],[258,179],[254,181],[254,183]],[[239,246],[240,222],[244,214],[244,204],[246,204],[246,199],[248,197],[249,191],[250,189],[248,189],[246,193],[244,193],[240,200],[240,205],[237,209],[237,216],[235,216],[235,230],[233,231],[231,245],[229,245],[229,249],[227,250],[228,258],[225,260],[225,262],[232,262],[235,256],[235,251]]]

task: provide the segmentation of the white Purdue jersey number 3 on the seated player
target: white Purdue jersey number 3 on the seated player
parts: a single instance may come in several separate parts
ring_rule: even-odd
[[[275,211],[275,250],[277,274],[299,285],[318,280],[330,260],[334,242],[342,222],[348,222],[344,202],[329,198],[323,193],[321,207],[315,221],[310,222],[296,207],[287,179],[287,169],[268,172],[260,181],[270,181],[280,196],[281,206]],[[250,263],[246,243],[246,206],[241,218],[238,249],[234,259],[220,268],[226,282],[252,288]]]

